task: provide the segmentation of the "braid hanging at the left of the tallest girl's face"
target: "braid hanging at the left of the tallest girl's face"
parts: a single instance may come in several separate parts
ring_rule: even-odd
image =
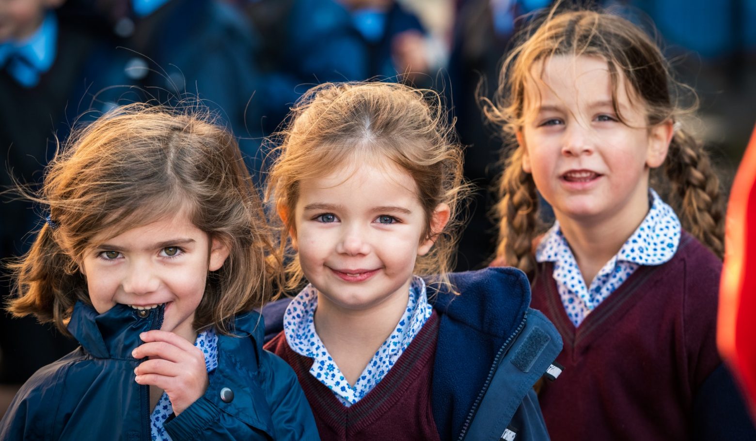
[[[538,196],[530,174],[522,170],[522,147],[507,159],[499,185],[499,245],[497,259],[532,277],[535,258],[533,239],[538,233]]]

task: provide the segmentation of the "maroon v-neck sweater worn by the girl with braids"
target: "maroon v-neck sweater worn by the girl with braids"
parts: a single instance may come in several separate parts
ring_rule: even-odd
[[[683,232],[671,261],[640,267],[578,328],[553,264],[539,270],[531,307],[564,341],[564,372],[538,396],[551,439],[690,439],[693,398],[720,365],[719,259]]]

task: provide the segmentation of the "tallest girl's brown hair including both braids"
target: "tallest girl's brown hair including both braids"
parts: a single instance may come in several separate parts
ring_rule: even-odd
[[[678,127],[680,114],[691,110],[678,105],[675,91],[692,90],[671,78],[670,67],[652,39],[624,18],[596,11],[557,12],[556,7],[543,20],[534,21],[523,39],[503,62],[495,102],[485,105],[486,116],[509,135],[508,142],[514,144],[524,124],[525,87],[533,75],[532,66],[555,55],[588,55],[606,60],[612,102],[620,119],[616,98],[621,73],[632,89],[631,95],[640,98],[645,106],[649,127],[676,122],[664,167],[668,185],[662,185],[668,187],[668,199],[677,208],[683,228],[721,258],[723,199],[719,180],[701,143]],[[538,223],[535,183],[522,170],[523,148],[516,146],[507,153],[498,187],[497,260],[532,276],[532,244],[543,228]]]

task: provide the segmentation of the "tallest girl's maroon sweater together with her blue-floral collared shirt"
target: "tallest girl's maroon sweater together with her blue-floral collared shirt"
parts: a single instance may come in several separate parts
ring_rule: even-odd
[[[536,251],[532,307],[564,341],[538,396],[552,439],[756,439],[716,347],[721,261],[651,208],[587,286],[559,224]]]

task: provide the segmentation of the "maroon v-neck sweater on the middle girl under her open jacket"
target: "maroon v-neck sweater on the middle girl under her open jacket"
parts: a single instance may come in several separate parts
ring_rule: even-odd
[[[438,440],[431,409],[431,380],[438,316],[435,311],[389,373],[373,390],[345,407],[309,370],[312,359],[294,352],[280,332],[265,349],[288,362],[302,389],[324,440]]]

